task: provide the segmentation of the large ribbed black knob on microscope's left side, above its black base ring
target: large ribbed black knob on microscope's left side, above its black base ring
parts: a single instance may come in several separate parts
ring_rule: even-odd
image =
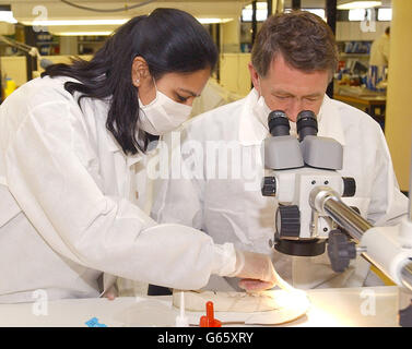
[[[298,239],[301,234],[301,213],[296,205],[279,205],[276,230],[281,239]]]

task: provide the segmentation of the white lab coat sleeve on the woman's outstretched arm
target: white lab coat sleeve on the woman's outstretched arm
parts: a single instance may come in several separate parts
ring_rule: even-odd
[[[232,273],[232,245],[214,245],[191,227],[157,225],[128,200],[102,193],[74,112],[72,104],[36,106],[5,152],[9,189],[45,243],[86,267],[173,288],[198,289],[212,273]]]

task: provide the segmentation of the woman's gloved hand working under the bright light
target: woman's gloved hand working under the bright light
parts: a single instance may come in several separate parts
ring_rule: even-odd
[[[239,287],[246,291],[262,291],[275,285],[292,289],[274,270],[269,255],[261,253],[236,250],[236,268],[231,276],[242,278]]]

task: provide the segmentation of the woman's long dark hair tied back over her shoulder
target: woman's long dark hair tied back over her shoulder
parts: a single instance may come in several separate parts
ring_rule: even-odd
[[[210,34],[189,13],[156,9],[137,16],[111,35],[91,61],[73,59],[71,64],[49,65],[43,76],[70,76],[64,88],[82,98],[110,99],[106,128],[125,154],[145,152],[151,135],[139,130],[138,88],[132,84],[131,67],[142,57],[154,80],[169,72],[191,73],[214,69],[217,49]]]

